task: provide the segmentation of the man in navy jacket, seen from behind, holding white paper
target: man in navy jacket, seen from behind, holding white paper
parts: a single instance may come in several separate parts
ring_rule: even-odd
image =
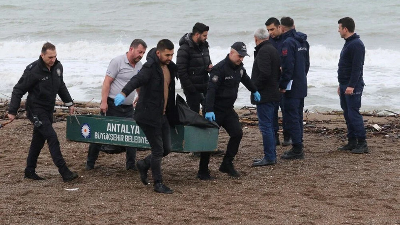
[[[303,159],[303,108],[304,98],[307,96],[310,45],[307,42],[307,35],[296,31],[293,19],[290,17],[282,17],[281,26],[284,43],[281,52],[282,77],[279,88],[285,93],[286,130],[292,139],[292,148],[285,151],[281,158]]]

